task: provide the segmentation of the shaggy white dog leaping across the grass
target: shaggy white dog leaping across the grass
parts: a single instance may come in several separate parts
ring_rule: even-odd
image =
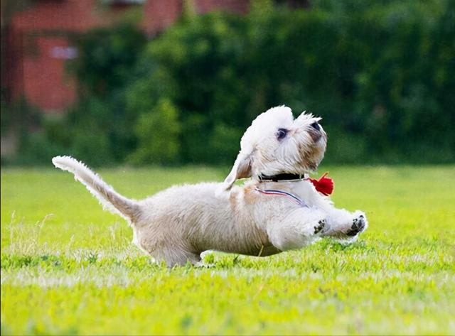
[[[119,195],[74,158],[52,161],[124,217],[134,244],[168,266],[195,264],[206,250],[267,256],[318,237],[351,242],[368,226],[363,212],[336,209],[305,176],[326,150],[319,120],[305,113],[294,120],[289,107],[269,109],[242,136],[224,183],[176,186],[139,201]],[[251,180],[233,186],[240,178]]]

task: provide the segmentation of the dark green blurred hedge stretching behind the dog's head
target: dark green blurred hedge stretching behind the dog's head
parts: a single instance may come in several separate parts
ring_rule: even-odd
[[[453,163],[454,2],[310,4],[186,15],[148,42],[88,33],[82,100],[48,141],[94,164],[232,163],[252,119],[287,104],[323,117],[326,162]]]

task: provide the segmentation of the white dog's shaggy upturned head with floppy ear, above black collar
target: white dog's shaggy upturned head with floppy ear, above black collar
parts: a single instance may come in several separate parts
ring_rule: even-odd
[[[314,172],[326,151],[321,118],[303,112],[294,119],[289,107],[259,114],[240,141],[240,153],[225,179],[225,190],[239,178]]]

